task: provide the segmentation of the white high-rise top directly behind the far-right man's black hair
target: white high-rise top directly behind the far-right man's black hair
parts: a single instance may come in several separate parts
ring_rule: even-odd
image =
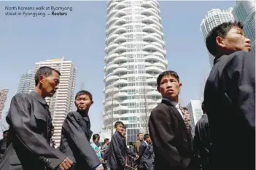
[[[201,25],[200,25],[200,31],[203,33],[203,40],[205,41],[206,36],[214,27],[217,25],[220,25],[225,22],[233,21],[234,17],[232,14],[233,8],[230,8],[228,10],[221,10],[221,9],[212,9],[209,12],[207,12],[207,15],[205,18],[203,18]],[[209,52],[208,52],[209,53]],[[214,65],[214,56],[209,53],[209,61],[211,67]]]

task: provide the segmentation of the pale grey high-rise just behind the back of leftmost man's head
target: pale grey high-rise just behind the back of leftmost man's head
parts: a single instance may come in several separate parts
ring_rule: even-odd
[[[29,93],[31,92],[31,84],[34,81],[33,72],[31,70],[28,71],[28,73],[24,73],[20,77],[20,83],[18,86],[17,93]]]

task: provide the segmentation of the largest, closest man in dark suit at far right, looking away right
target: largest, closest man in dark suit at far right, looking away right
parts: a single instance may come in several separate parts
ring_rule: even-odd
[[[255,170],[255,56],[242,29],[222,23],[206,37],[215,57],[204,91],[212,169]]]

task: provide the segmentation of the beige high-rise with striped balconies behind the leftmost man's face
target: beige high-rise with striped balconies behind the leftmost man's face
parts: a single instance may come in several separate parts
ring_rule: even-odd
[[[74,105],[74,88],[76,82],[77,69],[70,60],[53,59],[36,62],[34,73],[42,66],[48,66],[60,71],[60,84],[57,92],[53,97],[47,97],[45,100],[50,108],[50,113],[53,118],[53,126],[55,127],[53,139],[58,146],[61,141],[61,128],[66,115],[71,111]],[[31,89],[34,89],[35,82],[31,84]]]

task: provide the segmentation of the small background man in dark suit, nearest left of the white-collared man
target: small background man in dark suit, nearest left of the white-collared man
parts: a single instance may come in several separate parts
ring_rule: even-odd
[[[150,134],[144,134],[144,142],[139,147],[138,170],[153,170],[153,147],[150,145]]]

